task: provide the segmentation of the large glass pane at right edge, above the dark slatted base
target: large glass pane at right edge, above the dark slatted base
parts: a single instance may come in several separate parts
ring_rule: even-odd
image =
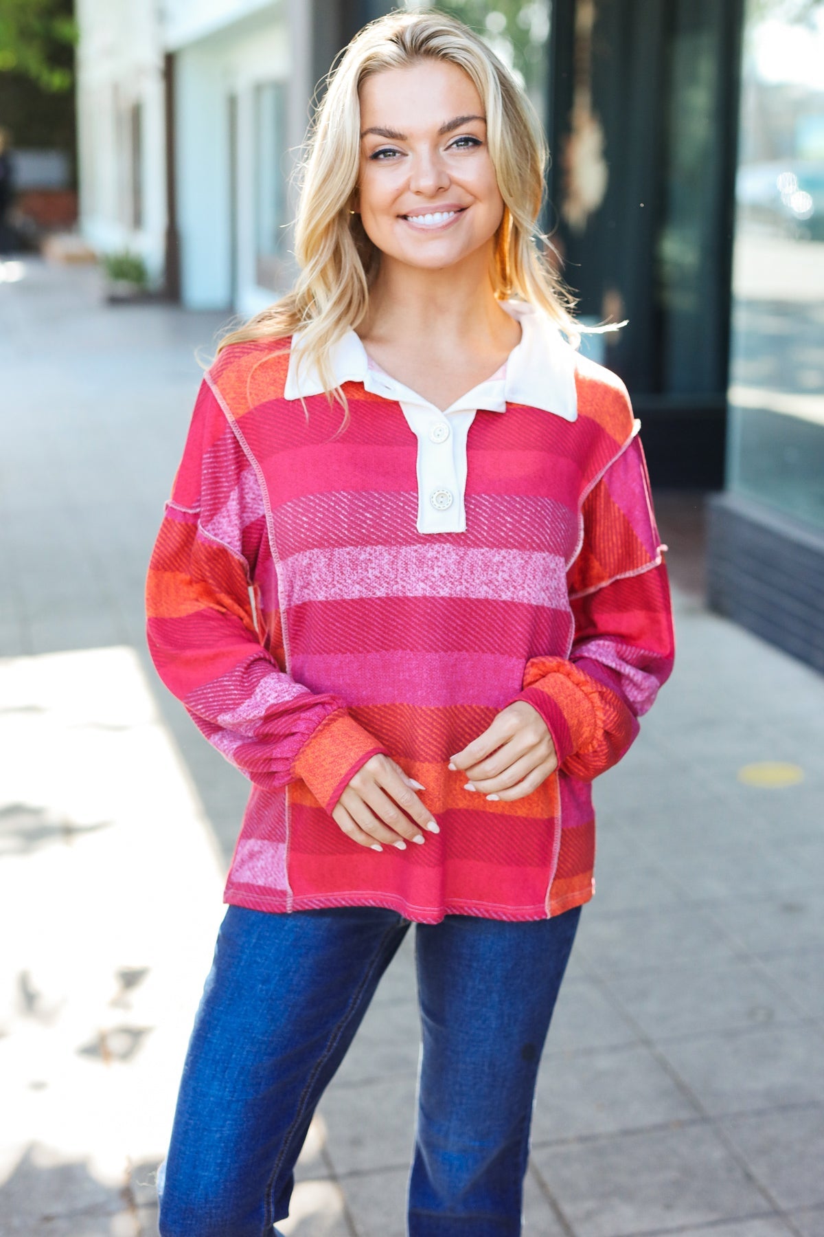
[[[824,2],[747,0],[729,484],[824,528]]]

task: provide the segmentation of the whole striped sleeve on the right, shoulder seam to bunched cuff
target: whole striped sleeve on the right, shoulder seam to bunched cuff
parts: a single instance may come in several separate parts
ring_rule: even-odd
[[[516,699],[546,721],[561,769],[592,781],[630,747],[675,656],[667,571],[637,437],[593,486],[582,517],[567,575],[570,656],[531,658]]]

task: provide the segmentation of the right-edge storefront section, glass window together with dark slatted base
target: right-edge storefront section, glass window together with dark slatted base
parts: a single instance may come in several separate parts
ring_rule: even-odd
[[[824,670],[824,5],[747,0],[709,600]]]

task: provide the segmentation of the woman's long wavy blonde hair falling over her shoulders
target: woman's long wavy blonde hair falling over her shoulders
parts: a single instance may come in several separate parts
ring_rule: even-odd
[[[294,287],[246,325],[221,339],[230,344],[279,339],[300,330],[299,362],[314,365],[324,388],[345,409],[335,386],[330,348],[366,317],[369,287],[380,254],[361,216],[351,214],[361,148],[359,87],[384,69],[408,68],[421,59],[457,64],[473,82],[484,105],[487,140],[504,214],[495,233],[493,288],[498,299],[519,297],[542,308],[578,346],[573,301],[539,249],[550,249],[537,231],[549,157],[537,115],[509,69],[468,26],[432,10],[392,12],[369,22],[340,54],[327,74],[327,90],[315,113],[306,155],[298,168],[299,197]],[[332,396],[330,395],[330,403]],[[304,404],[305,408],[305,404]]]

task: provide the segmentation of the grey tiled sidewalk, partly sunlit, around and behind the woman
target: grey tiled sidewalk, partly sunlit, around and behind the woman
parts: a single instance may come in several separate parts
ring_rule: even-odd
[[[221,315],[0,283],[0,1232],[152,1237],[246,783],[158,684],[146,564]],[[824,680],[700,600],[661,496],[678,661],[599,779],[541,1064],[535,1237],[824,1237]],[[801,781],[757,785],[747,766]],[[404,1237],[414,934],[299,1164],[294,1237]]]

